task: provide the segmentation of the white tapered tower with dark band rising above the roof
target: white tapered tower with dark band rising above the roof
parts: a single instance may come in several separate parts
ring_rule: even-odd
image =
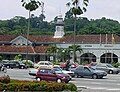
[[[56,31],[54,34],[54,38],[62,38],[64,36],[64,22],[62,15],[59,15],[57,17],[57,22],[56,22]]]

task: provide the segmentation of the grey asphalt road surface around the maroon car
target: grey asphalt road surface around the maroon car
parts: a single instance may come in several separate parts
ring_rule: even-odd
[[[8,69],[6,75],[11,79],[35,80],[28,72],[29,69]],[[82,92],[120,92],[120,74],[108,74],[103,79],[73,78],[70,82],[82,89]]]

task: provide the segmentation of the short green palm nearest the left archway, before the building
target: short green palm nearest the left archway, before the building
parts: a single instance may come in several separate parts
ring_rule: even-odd
[[[81,49],[81,46],[80,45],[71,45],[68,47],[69,48],[69,52],[73,52],[74,54],[74,62],[77,61],[77,55],[76,55],[76,52],[79,51],[79,53],[81,53],[83,50]]]

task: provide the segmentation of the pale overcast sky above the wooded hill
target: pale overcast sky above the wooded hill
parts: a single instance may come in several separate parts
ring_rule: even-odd
[[[45,4],[44,11],[47,21],[53,20],[60,13],[63,15],[68,10],[66,3],[69,0],[42,0]],[[120,0],[89,0],[87,12],[82,16],[88,19],[108,19],[120,22]],[[41,8],[32,12],[35,16],[41,14]],[[22,7],[21,0],[1,0],[0,2],[0,20],[11,19],[15,16],[28,16],[28,11]]]

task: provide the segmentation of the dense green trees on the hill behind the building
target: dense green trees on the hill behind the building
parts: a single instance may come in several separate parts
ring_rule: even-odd
[[[68,16],[68,15],[66,15]],[[47,21],[39,21],[40,17],[31,17],[30,34],[34,35],[54,35],[55,23]],[[26,34],[27,21],[25,17],[15,16],[10,20],[0,20],[0,34]],[[65,20],[66,35],[73,35],[74,18],[66,17]],[[76,33],[79,34],[120,34],[120,23],[112,19],[91,19],[78,17],[76,19]]]

